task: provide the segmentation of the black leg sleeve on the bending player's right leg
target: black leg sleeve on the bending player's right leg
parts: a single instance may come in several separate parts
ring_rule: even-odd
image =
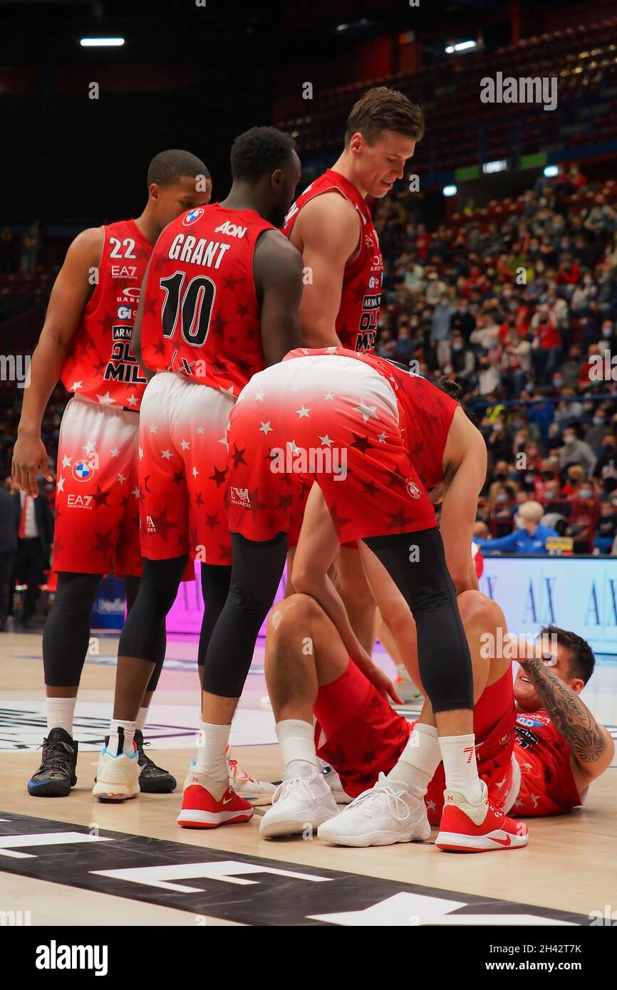
[[[434,712],[473,709],[473,671],[438,529],[368,537],[370,547],[409,605],[418,632],[422,683]]]

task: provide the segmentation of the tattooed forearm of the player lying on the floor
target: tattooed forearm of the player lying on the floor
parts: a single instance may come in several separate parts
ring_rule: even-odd
[[[539,657],[519,660],[544,707],[570,748],[569,762],[579,792],[610,764],[615,744],[575,691]]]

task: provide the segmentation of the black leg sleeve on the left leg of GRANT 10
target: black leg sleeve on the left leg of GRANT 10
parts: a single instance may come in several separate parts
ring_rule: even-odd
[[[144,560],[139,591],[118,644],[119,656],[150,660],[158,664],[158,674],[164,657],[165,619],[175,600],[186,559],[184,555],[171,560]],[[154,687],[157,680],[158,675]],[[154,691],[154,687],[149,684],[148,690]]]

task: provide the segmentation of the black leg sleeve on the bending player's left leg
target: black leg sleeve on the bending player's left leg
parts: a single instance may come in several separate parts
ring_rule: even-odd
[[[254,543],[232,533],[233,565],[229,594],[210,637],[203,689],[239,698],[253,659],[257,633],[276,594],[287,552],[287,535]]]

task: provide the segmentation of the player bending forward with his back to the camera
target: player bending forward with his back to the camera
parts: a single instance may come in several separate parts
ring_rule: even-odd
[[[435,431],[431,435],[434,443],[429,444],[427,438],[431,456],[436,457],[441,449],[439,469],[445,489],[441,534],[414,466],[421,410]],[[373,551],[417,624],[422,681],[437,728],[427,727],[423,748],[405,750],[409,772],[403,779],[414,777],[418,760],[420,769],[433,760],[435,766],[443,760],[448,788],[444,834],[481,837],[497,833],[508,847],[526,844],[527,830],[517,831],[514,823],[490,805],[486,785],[477,774],[471,661],[449,573],[449,568],[453,573],[472,569],[471,532],[486,473],[486,448],[479,431],[458,403],[418,375],[380,358],[337,347],[300,348],[280,364],[254,375],[230,422],[228,519],[235,540],[237,579],[213,632],[206,663],[222,662],[224,657],[230,676],[234,672],[238,683],[236,693],[228,696],[227,707],[219,705],[219,719],[227,714],[231,722],[258,624],[271,606],[283,569],[294,495],[301,481],[315,480],[336,533],[319,552],[312,549],[325,564],[319,567],[318,586],[312,594],[334,622],[352,658],[379,689],[393,691],[362,650],[327,577],[339,543],[360,540]],[[240,451],[242,458],[234,456]],[[301,566],[299,571],[301,582]],[[304,590],[302,583],[299,587]],[[415,802],[414,821],[424,833],[424,805],[414,795],[410,801]]]

